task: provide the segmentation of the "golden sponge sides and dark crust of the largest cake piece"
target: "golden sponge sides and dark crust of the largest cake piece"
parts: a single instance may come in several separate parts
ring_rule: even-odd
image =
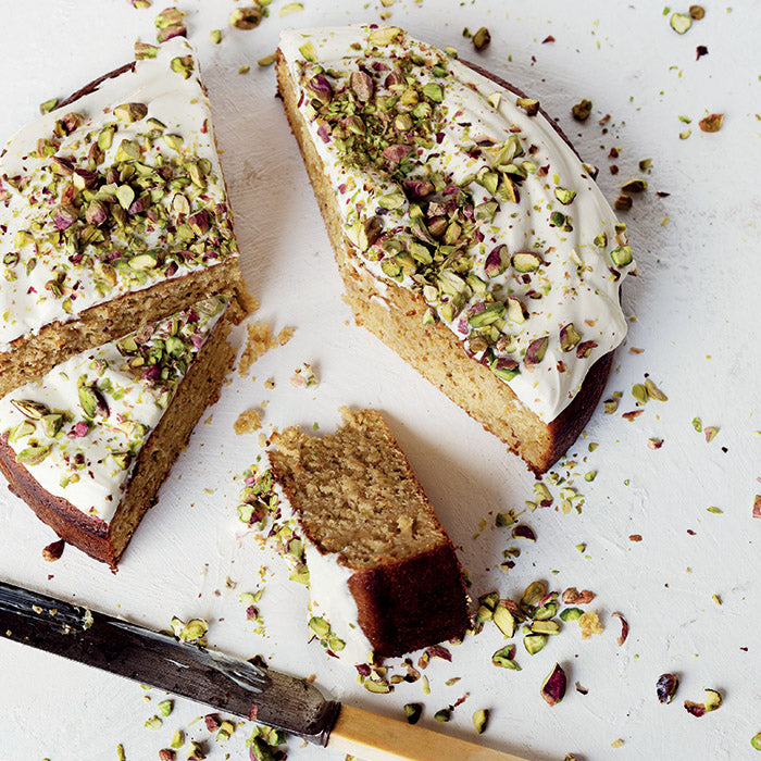
[[[471,358],[446,325],[440,322],[423,325],[423,314],[428,308],[423,297],[391,280],[379,282],[350,251],[344,238],[336,195],[298,109],[298,88],[279,50],[276,71],[285,112],[320,204],[344,279],[346,300],[357,324],[366,327],[486,431],[504,441],[534,473],[547,472],[576,440],[591,416],[610,373],[613,352],[592,365],[573,401],[558,417],[545,423],[521,403],[510,386]],[[515,91],[497,77],[477,71],[499,86]],[[567,141],[562,133],[559,135]]]

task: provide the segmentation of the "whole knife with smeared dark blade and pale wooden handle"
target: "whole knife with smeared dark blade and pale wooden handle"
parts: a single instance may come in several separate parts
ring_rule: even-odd
[[[365,761],[526,761],[326,700],[304,679],[5,582],[0,635]]]

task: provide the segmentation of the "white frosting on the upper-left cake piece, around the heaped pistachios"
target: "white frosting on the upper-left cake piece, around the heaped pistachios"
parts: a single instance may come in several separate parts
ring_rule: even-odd
[[[208,265],[207,261],[188,258],[179,260],[176,271],[169,275],[161,269],[133,272],[128,266],[116,267],[115,273],[112,273],[116,282],[104,288],[102,272],[93,266],[93,261],[98,259],[95,246],[80,245],[79,252],[85,254],[84,261],[75,263],[71,260],[72,251],[48,240],[48,236],[55,232],[52,210],[67,205],[62,199],[67,183],[59,182],[54,194],[46,191],[45,187],[55,175],[51,174],[50,158],[37,158],[36,154],[37,141],[53,136],[57,120],[67,112],[76,112],[85,117],[85,122],[71,135],[60,139],[55,155],[72,159],[77,167],[85,169],[88,150],[93,140],[97,141],[101,129],[104,125],[116,124],[112,145],[104,150],[104,160],[97,167],[97,172],[102,173],[116,161],[122,140],[135,139],[138,134],[150,132],[147,120],[153,117],[166,126],[163,134],[182,136],[183,145],[179,151],[173,150],[157,133],[152,146],[140,157],[140,163],[155,167],[157,160],[171,161],[178,157],[182,157],[182,161],[208,160],[211,162],[211,171],[207,176],[205,188],[200,191],[191,186],[186,191],[190,198],[190,211],[226,204],[209,101],[202,89],[198,66],[195,65],[192,75],[188,78],[171,68],[173,59],[192,54],[192,49],[185,39],[169,40],[159,47],[155,59],[137,61],[134,72],[107,79],[95,92],[84,96],[70,107],[30,122],[7,144],[4,155],[0,158],[0,267],[8,255],[14,258],[18,254],[20,261],[12,266],[7,264],[2,267],[4,277],[0,277],[0,351],[7,351],[15,338],[37,333],[48,323],[74,320],[84,310],[124,292],[148,288],[167,276],[180,277]],[[112,109],[128,102],[145,103],[148,107],[147,116],[132,124],[118,121]],[[14,177],[18,179],[14,182]],[[158,202],[164,208],[169,220],[177,224],[180,220],[176,211],[172,210],[173,196],[174,191],[169,190]],[[27,240],[20,245],[22,241],[16,237],[20,230],[30,230],[34,241]],[[108,249],[118,251],[130,246],[132,252],[139,252],[151,248],[188,248],[180,245],[167,246],[161,224],[147,223],[142,229],[130,230],[129,239],[126,238],[118,229],[114,229],[107,244]],[[205,240],[209,240],[209,236],[205,236]],[[235,253],[235,244],[232,242],[232,246]],[[33,259],[36,260],[36,265],[28,271]],[[65,292],[54,295],[46,284],[61,273],[66,274]]]

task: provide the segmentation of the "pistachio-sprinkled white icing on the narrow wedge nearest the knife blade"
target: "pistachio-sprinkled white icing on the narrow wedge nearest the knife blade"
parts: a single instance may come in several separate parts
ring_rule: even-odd
[[[227,309],[211,297],[0,399],[0,432],[51,495],[110,523],[137,456]]]

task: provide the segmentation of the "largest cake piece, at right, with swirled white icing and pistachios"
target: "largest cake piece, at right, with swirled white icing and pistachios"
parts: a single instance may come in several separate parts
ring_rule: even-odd
[[[398,27],[286,30],[278,89],[364,325],[537,474],[626,334],[619,223],[538,101]]]

